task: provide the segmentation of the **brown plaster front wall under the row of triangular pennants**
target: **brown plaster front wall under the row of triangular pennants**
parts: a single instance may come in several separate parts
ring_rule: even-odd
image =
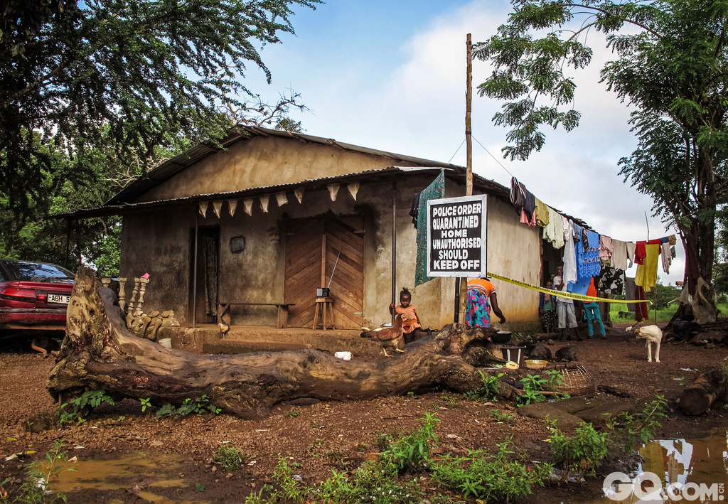
[[[408,215],[412,196],[424,189],[430,178],[400,182],[397,190],[397,296],[400,288],[414,286],[416,231]],[[145,311],[175,310],[181,323],[188,320],[190,235],[197,208],[178,207],[175,212],[149,212],[124,218],[122,231],[122,275],[140,276],[149,272]],[[223,204],[217,218],[212,205],[207,216],[199,218],[200,227],[221,228],[220,300],[221,302],[282,302],[285,284],[285,228],[295,219],[333,213],[336,216],[359,214],[365,219],[364,298],[365,323],[380,324],[390,319],[392,291],[392,184],[362,184],[353,200],[345,185],[335,202],[328,190],[304,192],[299,204],[293,194],[278,208],[275,197],[264,213],[256,198],[253,216],[239,202],[234,216]],[[245,237],[245,251],[233,254],[232,237]],[[443,290],[443,286],[445,286]],[[200,288],[200,286],[198,286]],[[420,286],[414,295],[425,327],[440,328],[452,321],[451,279],[433,280]],[[131,295],[127,288],[127,299]],[[446,298],[449,296],[449,301]],[[446,307],[446,310],[443,310]],[[233,307],[232,322],[240,325],[274,326],[275,307]]]

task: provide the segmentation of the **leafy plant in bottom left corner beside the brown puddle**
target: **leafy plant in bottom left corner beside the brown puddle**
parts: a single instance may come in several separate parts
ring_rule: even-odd
[[[43,468],[40,462],[33,462],[28,470],[28,475],[30,476],[28,481],[20,485],[20,489],[18,489],[12,500],[10,500],[7,493],[0,493],[0,503],[55,504],[58,501],[66,503],[68,500],[66,495],[52,492],[48,489],[50,483],[58,479],[58,474],[63,471],[63,468],[58,465],[60,460],[66,460],[66,452],[61,451],[63,446],[62,441],[56,441],[53,444],[52,451],[46,453],[47,465],[45,468]],[[73,468],[67,470],[71,472],[76,471]],[[9,481],[9,478],[5,479],[0,484],[0,487],[4,487]]]

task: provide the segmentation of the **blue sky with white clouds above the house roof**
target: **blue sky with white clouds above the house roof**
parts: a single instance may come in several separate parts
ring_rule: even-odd
[[[375,149],[447,162],[464,139],[465,37],[486,40],[505,23],[506,1],[341,1],[316,10],[296,9],[296,35],[261,50],[272,84],[249,68],[246,85],[274,100],[288,89],[301,93],[310,111],[295,112],[306,133]],[[473,136],[539,199],[585,219],[597,232],[620,240],[673,234],[652,217],[652,200],[618,176],[617,162],[636,146],[627,121],[630,110],[599,81],[612,57],[600,34],[590,34],[593,63],[571,71],[577,82],[577,130],[547,131],[547,143],[528,161],[502,159],[507,131],[495,127],[501,103],[473,98]],[[473,84],[483,82],[487,63],[473,63]],[[452,162],[464,165],[464,146]],[[510,183],[510,174],[478,143],[475,173]],[[678,245],[665,282],[682,280],[684,253]],[[634,272],[628,272],[628,275]]]

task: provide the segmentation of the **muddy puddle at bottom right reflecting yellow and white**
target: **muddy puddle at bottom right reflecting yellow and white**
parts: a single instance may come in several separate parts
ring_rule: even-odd
[[[607,476],[605,496],[590,504],[728,500],[728,433],[725,429],[689,440],[654,441],[642,446],[639,454],[644,461],[638,468],[627,474]]]

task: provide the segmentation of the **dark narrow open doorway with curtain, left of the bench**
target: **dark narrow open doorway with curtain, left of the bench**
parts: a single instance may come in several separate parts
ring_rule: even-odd
[[[197,265],[194,264],[194,229],[190,237],[189,318],[197,323],[216,323],[220,268],[220,227],[200,227],[197,232]],[[194,278],[197,276],[197,297]]]

